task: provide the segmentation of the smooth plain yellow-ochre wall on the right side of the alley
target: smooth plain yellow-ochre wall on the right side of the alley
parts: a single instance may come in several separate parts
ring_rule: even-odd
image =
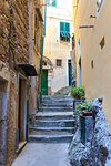
[[[73,0],[73,6],[77,2]],[[82,85],[85,86],[89,100],[103,97],[104,113],[111,126],[111,1],[104,1],[99,17],[97,15],[97,4],[93,0],[80,0],[73,11],[77,68],[79,34],[81,43]],[[91,19],[90,15],[97,15],[97,18]],[[94,25],[94,28],[79,29],[80,25]],[[100,42],[103,37],[105,45],[101,50]],[[93,69],[91,68],[92,60],[94,63]]]

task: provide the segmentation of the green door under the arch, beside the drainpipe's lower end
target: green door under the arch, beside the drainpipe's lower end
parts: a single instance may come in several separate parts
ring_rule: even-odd
[[[42,95],[48,95],[48,70],[42,71]]]

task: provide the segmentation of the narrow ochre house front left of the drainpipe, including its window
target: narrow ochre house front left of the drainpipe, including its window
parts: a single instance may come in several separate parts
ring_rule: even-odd
[[[41,53],[44,33],[44,0],[33,0],[29,3],[29,62],[34,64],[38,76],[31,77],[30,113],[39,107],[41,87]]]

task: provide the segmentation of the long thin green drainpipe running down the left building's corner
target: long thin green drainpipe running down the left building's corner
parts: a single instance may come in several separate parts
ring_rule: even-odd
[[[41,90],[40,90],[40,103],[42,102],[42,62],[43,62],[43,46],[44,46],[44,37],[46,37],[46,20],[47,20],[47,0],[44,1],[44,34],[42,37],[42,48],[41,48]]]

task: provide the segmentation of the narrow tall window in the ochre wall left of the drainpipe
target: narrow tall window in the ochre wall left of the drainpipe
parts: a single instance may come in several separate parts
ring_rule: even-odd
[[[36,17],[36,19],[34,19],[34,48],[36,48],[36,51],[38,50],[38,29],[39,29],[39,25],[38,25],[38,20]]]

